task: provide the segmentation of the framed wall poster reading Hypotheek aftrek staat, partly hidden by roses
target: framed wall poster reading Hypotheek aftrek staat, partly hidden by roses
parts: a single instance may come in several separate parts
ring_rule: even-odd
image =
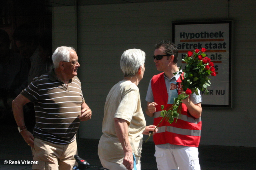
[[[173,22],[172,41],[178,49],[178,67],[188,51],[205,48],[214,63],[216,76],[210,76],[209,94],[201,92],[202,106],[231,107],[231,21]]]

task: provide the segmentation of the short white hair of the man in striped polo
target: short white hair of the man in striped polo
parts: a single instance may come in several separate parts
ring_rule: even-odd
[[[75,49],[73,47],[58,47],[54,53],[52,54],[52,63],[54,64],[55,68],[59,67],[59,63],[61,61],[69,61],[70,57],[70,51]]]

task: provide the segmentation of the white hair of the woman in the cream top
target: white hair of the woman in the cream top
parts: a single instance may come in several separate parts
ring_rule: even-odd
[[[120,66],[125,77],[132,77],[138,73],[140,66],[145,63],[146,54],[140,49],[129,49],[121,56]]]

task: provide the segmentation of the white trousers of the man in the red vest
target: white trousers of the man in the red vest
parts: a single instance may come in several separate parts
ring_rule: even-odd
[[[163,149],[156,146],[155,156],[158,170],[200,170],[197,147]]]

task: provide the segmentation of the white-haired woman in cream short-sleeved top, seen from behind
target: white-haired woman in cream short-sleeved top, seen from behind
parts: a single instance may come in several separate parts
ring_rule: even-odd
[[[146,126],[137,87],[145,71],[145,57],[140,49],[124,51],[120,61],[124,79],[111,88],[106,99],[98,155],[102,166],[110,170],[132,170],[133,154],[140,170],[142,134],[148,135],[156,127]]]

